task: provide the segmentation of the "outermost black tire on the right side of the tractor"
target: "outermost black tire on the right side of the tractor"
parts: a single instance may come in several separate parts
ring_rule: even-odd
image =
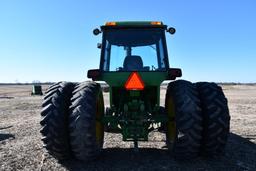
[[[202,154],[222,154],[227,143],[230,115],[222,88],[215,83],[196,83],[203,109]]]

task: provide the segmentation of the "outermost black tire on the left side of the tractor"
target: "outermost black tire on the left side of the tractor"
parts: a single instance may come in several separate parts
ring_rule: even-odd
[[[60,160],[70,157],[68,112],[73,83],[52,85],[44,96],[41,111],[41,134],[44,147]]]

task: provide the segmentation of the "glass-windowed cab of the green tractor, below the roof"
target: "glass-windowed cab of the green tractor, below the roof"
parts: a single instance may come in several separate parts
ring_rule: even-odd
[[[166,26],[121,26],[101,27],[102,71],[166,71],[169,68],[165,43]]]

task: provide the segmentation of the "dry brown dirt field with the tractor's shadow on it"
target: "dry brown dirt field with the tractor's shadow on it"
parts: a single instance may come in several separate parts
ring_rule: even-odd
[[[139,143],[136,153],[130,148],[133,144],[122,142],[119,134],[106,133],[97,161],[58,163],[44,152],[40,140],[42,97],[30,96],[31,86],[0,86],[0,170],[256,170],[256,86],[223,89],[232,133],[222,157],[177,162],[167,154],[164,134],[150,134],[150,141]]]

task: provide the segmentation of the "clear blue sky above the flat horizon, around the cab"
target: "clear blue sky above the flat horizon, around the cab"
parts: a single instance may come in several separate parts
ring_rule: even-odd
[[[256,82],[255,0],[0,0],[0,82],[84,81],[107,21],[163,21],[182,79]]]

